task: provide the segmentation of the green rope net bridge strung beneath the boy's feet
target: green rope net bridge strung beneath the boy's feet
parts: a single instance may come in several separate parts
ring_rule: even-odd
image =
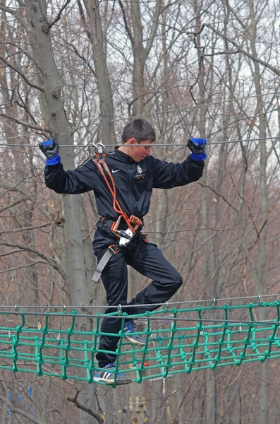
[[[279,300],[260,302],[259,297],[247,305],[221,306],[215,300],[210,305],[205,302],[207,306],[193,302],[195,306],[188,308],[182,304],[190,302],[166,304],[160,310],[135,315],[138,334],[146,341],[142,348],[126,341],[126,314],[121,308],[109,314],[122,323],[116,374],[127,372],[133,382],[141,383],[181,372],[280,358]],[[91,314],[90,308],[87,313],[67,312],[65,308],[62,312],[30,312],[0,307],[0,369],[94,382],[100,326],[108,314]],[[79,320],[90,322],[93,330],[78,331]]]

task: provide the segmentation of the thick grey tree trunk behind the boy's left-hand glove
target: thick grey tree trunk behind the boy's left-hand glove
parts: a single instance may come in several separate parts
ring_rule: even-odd
[[[73,143],[66,114],[61,98],[59,75],[54,60],[54,52],[49,34],[47,21],[47,5],[44,0],[39,4],[35,0],[26,0],[25,11],[30,27],[30,40],[33,55],[42,69],[41,78],[44,84],[44,106],[47,126],[52,135],[56,136],[61,146]],[[61,149],[62,163],[66,169],[75,167],[73,148]],[[80,228],[79,196],[63,195],[65,213],[65,239],[67,248],[67,278],[71,293],[72,305],[89,305],[90,297],[85,275],[83,255],[83,240]],[[84,310],[85,312],[85,310]],[[90,320],[77,319],[75,330],[89,331]],[[83,354],[82,354],[83,355]],[[84,404],[90,403],[90,396],[86,387],[80,393]],[[80,424],[92,424],[93,418],[80,411]]]

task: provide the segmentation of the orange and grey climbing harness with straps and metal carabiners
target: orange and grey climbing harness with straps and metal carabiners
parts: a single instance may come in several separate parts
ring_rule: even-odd
[[[111,221],[110,227],[111,232],[113,232],[113,234],[118,237],[118,240],[116,241],[116,243],[110,245],[108,249],[106,249],[106,252],[100,259],[99,264],[97,265],[97,269],[95,270],[95,273],[92,276],[92,281],[98,283],[102,271],[105,268],[106,264],[109,262],[109,259],[115,254],[117,254],[119,246],[126,247],[129,245],[131,240],[133,240],[136,230],[138,230],[138,228],[142,226],[142,222],[140,218],[134,215],[131,215],[128,218],[128,215],[123,212],[121,205],[116,199],[116,184],[105,161],[106,148],[104,144],[101,142],[97,144],[92,143],[92,146],[95,149],[94,155],[92,155],[92,157],[94,156],[93,162],[95,163],[95,165],[97,165],[99,172],[101,173],[102,177],[104,178],[104,181],[106,182],[106,186],[108,187],[109,192],[113,197],[114,211],[118,213],[118,219],[116,221]],[[107,177],[107,175],[109,178]],[[104,223],[104,220],[106,220],[105,216],[102,218],[101,222],[102,225],[107,226],[107,224]],[[128,227],[126,228],[126,230],[118,229],[121,220],[124,220],[126,222],[126,225]],[[109,220],[107,220],[106,222],[108,223],[108,221]]]

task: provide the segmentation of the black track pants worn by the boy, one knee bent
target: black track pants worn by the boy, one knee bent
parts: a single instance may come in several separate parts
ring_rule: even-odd
[[[97,254],[98,260],[101,259],[102,254]],[[132,266],[143,276],[152,279],[152,282],[138,295],[135,295],[135,298],[128,304],[142,306],[123,308],[123,312],[128,314],[142,314],[157,309],[157,307],[147,306],[147,304],[167,302],[183,283],[181,275],[169,264],[162,251],[152,243],[143,242],[138,236],[130,242],[128,247],[118,249],[118,253],[111,257],[102,272],[107,304],[110,306],[127,305],[127,265]],[[114,311],[113,308],[109,308],[106,313]],[[115,317],[104,318],[101,331],[118,334],[118,331],[121,330],[121,321],[121,319]],[[118,336],[101,336],[99,349],[116,351],[118,340]],[[97,360],[99,367],[104,367],[108,363],[113,363],[116,360],[116,355],[98,352]]]

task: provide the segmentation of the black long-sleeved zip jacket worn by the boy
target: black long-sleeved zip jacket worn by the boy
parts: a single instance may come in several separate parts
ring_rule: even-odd
[[[121,208],[128,217],[138,218],[149,211],[153,188],[171,189],[197,181],[204,167],[204,161],[198,162],[190,156],[182,163],[168,163],[148,155],[135,163],[126,153],[118,151],[118,147],[107,153],[106,164],[114,177],[116,198]],[[56,193],[80,194],[93,190],[99,215],[111,220],[118,218],[111,193],[91,158],[75,170],[65,171],[61,163],[46,166],[44,177],[47,187]]]

